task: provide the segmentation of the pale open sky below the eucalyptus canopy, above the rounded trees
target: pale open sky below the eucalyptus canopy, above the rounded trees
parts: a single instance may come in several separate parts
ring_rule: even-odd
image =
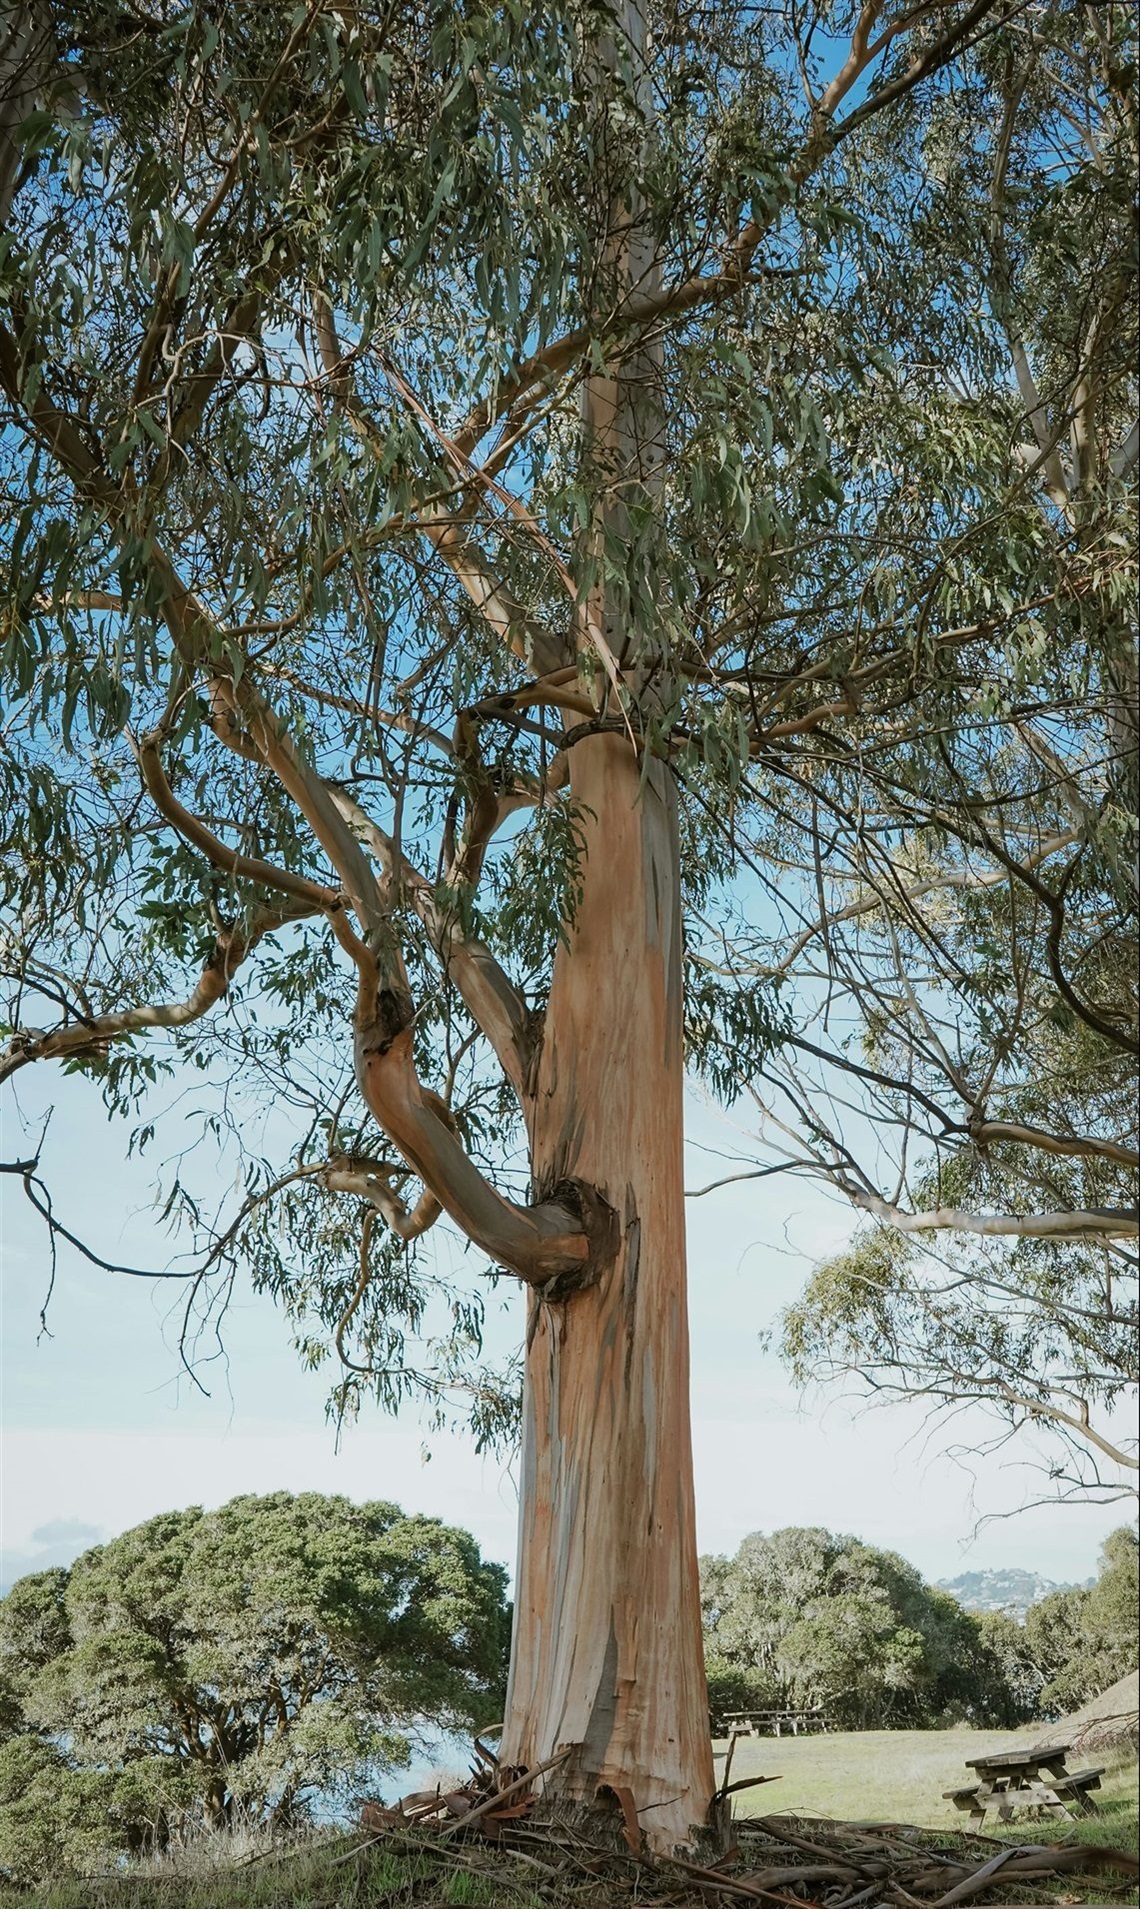
[[[46,1166],[61,1218],[109,1254],[162,1264],[170,1243],[147,1210],[153,1166],[124,1163],[124,1128],[107,1124],[92,1084],[55,1069],[27,1069],[13,1084],[0,1115],[2,1155],[25,1153],[25,1122],[34,1132],[53,1103]],[[689,1136],[689,1185],[716,1178],[718,1153],[743,1138],[697,1098]],[[179,1373],[174,1285],[115,1277],[63,1248],[52,1336],[40,1336],[46,1237],[19,1182],[4,1176],[0,1201],[2,1583],[67,1562],[158,1510],[281,1487],[393,1499],[468,1525],[489,1556],[512,1563],[512,1468],[479,1458],[462,1437],[428,1437],[414,1415],[365,1413],[338,1449],[325,1374],[302,1371],[267,1298],[237,1294],[225,1357],[206,1374],[208,1397]],[[970,1470],[945,1457],[951,1434],[932,1432],[918,1409],[800,1399],[762,1350],[762,1329],[852,1229],[842,1201],[787,1176],[689,1206],[701,1548],[735,1550],[749,1531],[823,1523],[903,1552],[932,1579],[1004,1563],[1060,1581],[1088,1577],[1127,1504],[1010,1518],[1041,1491],[1025,1449]],[[439,1250],[458,1248],[441,1239]],[[500,1292],[493,1331],[506,1344],[519,1302],[506,1283]],[[978,1413],[962,1415],[953,1439],[970,1445],[987,1426]]]

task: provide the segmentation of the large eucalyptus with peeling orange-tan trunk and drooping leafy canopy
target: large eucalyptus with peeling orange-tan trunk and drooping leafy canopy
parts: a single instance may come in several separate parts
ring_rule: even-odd
[[[1071,95],[1025,61],[1087,61],[1115,181],[1125,34],[1077,0],[44,0],[4,29],[2,1071],[59,1061],[126,1115],[191,1071],[246,1174],[222,1216],[168,1185],[197,1277],[252,1266],[344,1405],[466,1386],[489,1436],[479,1273],[523,1283],[502,1754],[655,1846],[714,1793],[686,1058],[731,1098],[819,1046],[833,872],[938,853],[953,888],[985,850],[1012,918],[1077,842],[1039,897],[1056,985],[1127,1037],[1109,956],[1066,966],[1075,897],[1119,893],[1111,829],[1058,823],[1067,771],[1004,697],[1046,659],[1064,758],[1127,678],[1123,615],[1087,628],[1125,567],[1123,315],[1075,527],[1069,388],[1027,401],[1003,315],[1041,210],[1012,155]],[[781,901],[808,939],[773,954]],[[961,945],[920,943],[917,1008],[854,991],[871,1040],[959,985]],[[470,1283],[426,1258],[441,1216]]]

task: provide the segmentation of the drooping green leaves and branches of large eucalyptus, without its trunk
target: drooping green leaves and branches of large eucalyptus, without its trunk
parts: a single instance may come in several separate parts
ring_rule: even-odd
[[[1081,1321],[1075,1407],[1012,1413],[1087,1451],[1134,1380],[1130,15],[634,11],[6,27],[4,1071],[95,1077],[139,1147],[193,1079],[243,1185],[166,1168],[199,1304],[248,1269],[338,1409],[458,1388],[510,1434],[353,962],[397,949],[422,1080],[523,1193],[487,991],[538,1038],[567,762],[628,735],[680,796],[691,1071],[903,1237],[1012,1237],[953,1279],[1014,1285],[1014,1363]],[[581,430],[630,363],[636,483]],[[909,1277],[848,1268],[792,1352],[875,1353],[871,1294],[1003,1397],[1004,1315],[951,1369]]]

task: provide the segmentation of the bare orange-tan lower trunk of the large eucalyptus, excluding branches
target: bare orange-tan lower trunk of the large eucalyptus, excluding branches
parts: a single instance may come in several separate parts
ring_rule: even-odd
[[[531,1290],[519,1567],[502,1758],[569,1749],[546,1793],[613,1791],[651,1848],[714,1791],[701,1649],[682,1182],[682,928],[672,781],[628,737],[571,752],[586,834],[531,1109],[538,1197],[615,1214],[600,1277]],[[613,1800],[611,1800],[613,1802]]]

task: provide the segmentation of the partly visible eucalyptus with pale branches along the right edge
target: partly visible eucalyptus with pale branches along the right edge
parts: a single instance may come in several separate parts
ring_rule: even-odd
[[[1046,1434],[1050,1489],[1075,1499],[1134,1493],[1138,1470],[1136,183],[1113,8],[1033,13],[924,118],[905,269],[983,323],[968,351],[928,332],[932,363],[907,367],[934,462],[878,514],[831,657],[844,619],[855,649],[867,615],[897,622],[922,531],[915,640],[972,649],[913,666],[888,722],[865,706],[882,659],[850,672],[792,827],[752,821],[781,876],[729,956],[794,981],[800,1010],[739,1073],[758,1170],[815,1174],[871,1218],[785,1315],[792,1369],[989,1405],[995,1443]],[[978,487],[955,536],[945,485]],[[926,582],[989,538],[987,641],[934,638]]]

